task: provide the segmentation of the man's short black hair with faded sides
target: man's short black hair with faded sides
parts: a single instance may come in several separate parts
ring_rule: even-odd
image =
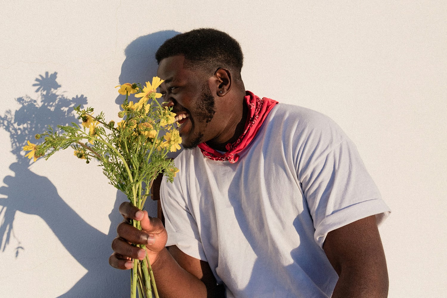
[[[178,34],[166,40],[155,54],[157,63],[161,60],[184,55],[186,67],[211,75],[219,67],[232,71],[233,79],[242,82],[240,70],[244,55],[237,42],[225,32],[202,28]]]

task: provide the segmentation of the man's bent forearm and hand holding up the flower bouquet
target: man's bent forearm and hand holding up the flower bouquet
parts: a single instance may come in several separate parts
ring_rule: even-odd
[[[118,225],[118,237],[112,242],[112,267],[130,269],[132,258],[142,260],[147,253],[161,297],[224,297],[223,287],[217,285],[207,262],[186,255],[176,246],[169,251],[164,247],[167,233],[158,218],[149,218],[146,211],[129,202],[122,203],[119,210],[125,220]],[[128,224],[129,218],[140,220],[142,231]],[[146,252],[130,243],[146,244]]]

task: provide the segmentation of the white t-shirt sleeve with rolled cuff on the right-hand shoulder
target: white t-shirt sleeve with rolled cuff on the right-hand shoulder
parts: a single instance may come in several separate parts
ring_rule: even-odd
[[[371,215],[380,224],[390,213],[354,143],[332,121],[325,124],[330,128],[312,131],[299,148],[297,167],[320,248],[330,231]]]

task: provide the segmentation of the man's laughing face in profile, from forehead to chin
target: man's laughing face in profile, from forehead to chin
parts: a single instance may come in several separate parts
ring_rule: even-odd
[[[198,71],[185,68],[183,55],[161,60],[157,75],[164,80],[160,85],[164,101],[173,106],[173,113],[180,123],[178,130],[183,147],[192,149],[212,139],[215,101],[207,78]]]

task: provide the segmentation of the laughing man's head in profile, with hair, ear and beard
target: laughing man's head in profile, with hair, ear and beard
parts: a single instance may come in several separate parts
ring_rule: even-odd
[[[196,29],[164,42],[156,59],[160,92],[177,114],[183,146],[228,142],[245,96],[239,43],[215,29]]]

